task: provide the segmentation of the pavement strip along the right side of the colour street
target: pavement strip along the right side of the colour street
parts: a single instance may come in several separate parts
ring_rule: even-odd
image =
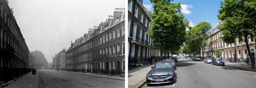
[[[252,66],[247,66],[241,63],[225,63],[225,66],[256,72],[256,69],[252,69]]]

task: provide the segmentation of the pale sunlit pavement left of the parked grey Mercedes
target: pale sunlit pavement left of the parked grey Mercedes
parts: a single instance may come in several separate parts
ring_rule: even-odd
[[[143,67],[131,69],[128,71],[128,87],[137,88],[143,85],[146,82],[146,74],[151,70],[151,66],[146,65]]]

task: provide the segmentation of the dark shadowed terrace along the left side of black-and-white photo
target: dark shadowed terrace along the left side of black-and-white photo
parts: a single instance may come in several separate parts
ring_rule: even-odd
[[[0,1],[0,84],[28,73],[34,67],[28,46],[7,0]]]

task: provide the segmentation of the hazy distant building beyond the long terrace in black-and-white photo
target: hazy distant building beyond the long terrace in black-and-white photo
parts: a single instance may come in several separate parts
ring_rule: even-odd
[[[55,54],[52,58],[52,68],[66,71],[66,49],[58,52],[58,54]]]

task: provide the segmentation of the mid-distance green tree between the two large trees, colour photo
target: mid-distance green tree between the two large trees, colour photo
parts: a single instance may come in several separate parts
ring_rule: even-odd
[[[200,50],[204,50],[207,44],[206,40],[208,39],[207,32],[210,29],[211,25],[209,22],[200,22],[195,27],[190,27],[190,30],[186,34],[187,49],[189,49],[188,51],[190,51],[190,53],[198,53]]]

